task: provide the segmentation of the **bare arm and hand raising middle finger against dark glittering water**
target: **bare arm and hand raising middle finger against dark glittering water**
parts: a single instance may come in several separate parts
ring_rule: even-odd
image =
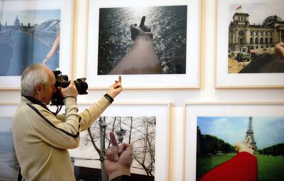
[[[145,16],[142,17],[139,27],[130,26],[131,39],[134,40],[132,49],[108,73],[121,74],[162,74],[164,73],[153,43],[153,34],[150,27],[145,26]]]

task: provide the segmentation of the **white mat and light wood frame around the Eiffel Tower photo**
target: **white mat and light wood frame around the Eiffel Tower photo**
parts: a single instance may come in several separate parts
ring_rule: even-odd
[[[283,108],[284,102],[186,103],[184,106],[183,180],[196,180],[197,117],[284,117]]]

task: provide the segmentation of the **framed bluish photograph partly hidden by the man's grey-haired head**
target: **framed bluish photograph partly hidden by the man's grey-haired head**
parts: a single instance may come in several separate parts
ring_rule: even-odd
[[[33,63],[71,73],[73,0],[1,0],[0,8],[0,89],[19,89]]]

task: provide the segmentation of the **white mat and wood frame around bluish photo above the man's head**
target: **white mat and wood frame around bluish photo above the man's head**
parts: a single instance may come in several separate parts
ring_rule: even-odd
[[[58,68],[63,75],[72,77],[75,0],[14,0],[0,3],[3,5],[2,10],[60,9],[60,61]],[[20,90],[20,86],[21,76],[0,76],[0,90]]]

